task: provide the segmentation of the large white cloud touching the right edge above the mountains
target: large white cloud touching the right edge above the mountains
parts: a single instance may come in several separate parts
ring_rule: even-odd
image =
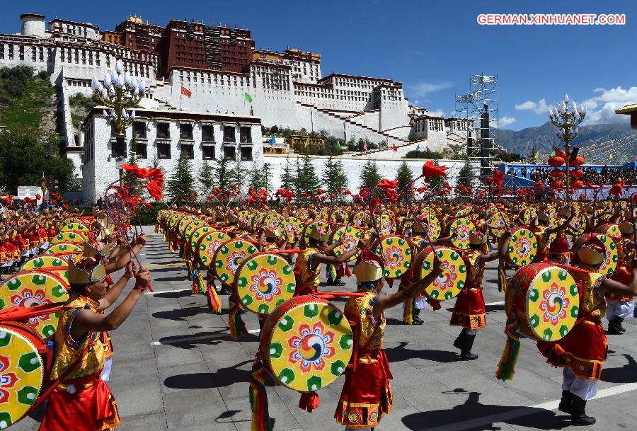
[[[596,125],[617,122],[629,122],[629,115],[616,114],[615,110],[629,103],[637,102],[637,87],[595,88],[599,96],[584,100],[582,104],[588,108],[585,124]]]

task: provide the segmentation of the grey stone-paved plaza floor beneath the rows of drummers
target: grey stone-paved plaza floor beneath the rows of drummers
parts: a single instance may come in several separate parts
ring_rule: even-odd
[[[144,294],[130,318],[113,333],[115,357],[109,385],[122,418],[117,430],[250,430],[248,381],[258,348],[257,316],[243,316],[251,332],[248,338],[231,340],[227,297],[221,297],[223,314],[211,314],[205,297],[191,294],[178,253],[168,251],[161,235],[151,233],[150,227],[144,231],[150,239],[142,262],[151,272],[155,293]],[[347,279],[346,290],[354,289],[353,280]],[[403,325],[400,306],[386,313],[385,347],[395,398],[378,431],[522,431],[569,426],[567,416],[557,410],[561,369],[546,364],[531,340],[522,340],[514,379],[505,383],[495,379],[505,345],[506,318],[497,280],[491,263],[484,284],[487,327],[478,332],[474,344],[474,353],[480,355],[476,361],[457,361],[452,342],[459,328],[449,326],[453,301],[442,303],[436,312],[423,310],[423,326]],[[386,287],[385,292],[395,288]],[[626,334],[609,335],[611,353],[600,390],[587,405],[597,425],[587,430],[637,429],[637,363],[633,359],[637,328],[633,321],[624,326]],[[298,408],[299,393],[268,387],[274,429],[343,430],[333,415],[344,380],[341,377],[319,391],[321,405],[313,413]],[[11,429],[37,430],[38,425],[26,418]]]

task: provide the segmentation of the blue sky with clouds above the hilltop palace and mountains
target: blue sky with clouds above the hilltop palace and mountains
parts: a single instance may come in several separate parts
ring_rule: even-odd
[[[451,115],[469,76],[498,74],[500,127],[543,124],[564,93],[592,123],[627,122],[614,108],[637,103],[634,1],[5,1],[0,32],[20,30],[20,13],[91,22],[112,30],[127,14],[165,25],[203,19],[250,28],[256,47],[323,55],[323,76],[401,81],[411,103]],[[526,4],[523,6],[522,4]],[[483,26],[479,13],[625,13],[626,25]],[[631,46],[632,45],[632,46]]]

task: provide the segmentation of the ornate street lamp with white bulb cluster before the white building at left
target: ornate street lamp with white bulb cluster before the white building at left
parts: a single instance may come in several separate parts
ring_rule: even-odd
[[[146,91],[144,81],[137,81],[128,72],[124,72],[122,62],[115,62],[115,70],[107,71],[104,75],[103,84],[93,77],[91,88],[96,98],[110,108],[110,113],[103,111],[107,118],[108,124],[115,127],[117,132],[117,146],[124,146],[126,139],[126,127],[130,126],[135,120],[135,111],[130,110],[139,104]]]

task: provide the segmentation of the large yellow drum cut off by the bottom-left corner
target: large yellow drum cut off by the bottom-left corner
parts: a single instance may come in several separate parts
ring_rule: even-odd
[[[0,326],[0,427],[21,420],[45,381],[46,344],[38,333],[19,324]]]

